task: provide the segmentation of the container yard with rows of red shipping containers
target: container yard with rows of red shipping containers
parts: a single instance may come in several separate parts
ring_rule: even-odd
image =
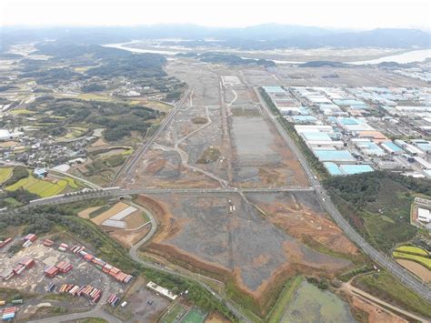
[[[19,246],[22,241],[30,241],[32,244],[21,247],[12,256],[7,253],[6,247],[0,249],[0,288],[16,289],[17,294],[22,291],[29,293],[31,297],[25,298],[24,303],[22,298],[15,299],[13,303],[0,303],[0,306],[20,306],[19,313],[7,312],[6,319],[28,318],[37,310],[39,303],[50,304],[49,306],[67,304],[71,311],[88,310],[101,300],[103,304],[116,306],[133,278],[93,256],[85,246],[78,246],[74,241],[55,241],[49,238],[38,240],[37,237],[26,236],[11,237],[11,241],[6,244],[14,241]],[[65,250],[59,249],[60,246]],[[48,298],[45,297],[49,294],[57,294],[61,298],[46,301]],[[113,298],[108,302],[107,298],[111,295],[118,299]],[[70,302],[69,299],[65,303],[62,300],[67,299],[65,297],[74,297],[75,300]]]

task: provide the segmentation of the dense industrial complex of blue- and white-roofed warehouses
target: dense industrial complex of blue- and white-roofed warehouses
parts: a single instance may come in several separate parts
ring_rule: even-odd
[[[431,177],[429,88],[263,88],[330,175]]]

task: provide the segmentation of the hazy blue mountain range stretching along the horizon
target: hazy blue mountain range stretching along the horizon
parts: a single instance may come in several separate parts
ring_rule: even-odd
[[[23,41],[61,39],[86,45],[123,43],[133,39],[187,39],[199,45],[224,45],[242,49],[388,47],[429,48],[431,34],[418,29],[353,31],[299,25],[253,25],[216,28],[199,25],[140,25],[134,27],[45,27],[0,29],[0,50]],[[211,40],[213,39],[213,40]],[[217,40],[214,41],[214,40]],[[222,42],[220,42],[222,41]],[[187,43],[193,45],[193,43]]]

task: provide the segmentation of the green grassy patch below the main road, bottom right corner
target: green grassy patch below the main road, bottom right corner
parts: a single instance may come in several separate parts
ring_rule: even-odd
[[[354,279],[353,285],[376,298],[385,299],[389,303],[424,315],[427,318],[431,317],[429,303],[410,289],[405,288],[385,270],[358,277]]]

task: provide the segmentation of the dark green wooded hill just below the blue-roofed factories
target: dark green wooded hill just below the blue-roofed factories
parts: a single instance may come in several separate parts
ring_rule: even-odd
[[[429,181],[380,171],[329,177],[324,185],[350,224],[386,252],[416,237],[410,206],[417,194],[426,196],[431,187]]]

